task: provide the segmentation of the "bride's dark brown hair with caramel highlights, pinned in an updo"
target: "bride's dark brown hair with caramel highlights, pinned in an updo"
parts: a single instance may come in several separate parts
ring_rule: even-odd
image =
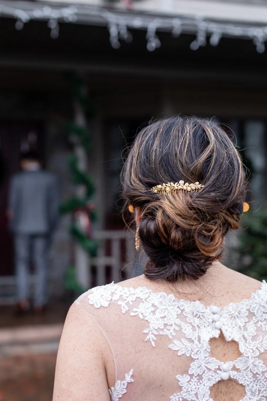
[[[122,171],[126,206],[142,207],[139,236],[149,279],[198,279],[221,257],[227,231],[237,229],[245,172],[219,125],[195,117],[154,122],[137,135]],[[199,182],[199,191],[158,194],[167,182]]]

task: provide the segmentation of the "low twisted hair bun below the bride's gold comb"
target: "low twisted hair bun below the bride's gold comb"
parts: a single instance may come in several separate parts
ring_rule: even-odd
[[[199,278],[220,256],[226,227],[219,214],[204,222],[189,194],[171,194],[150,203],[139,225],[149,257],[145,274],[169,281]]]

